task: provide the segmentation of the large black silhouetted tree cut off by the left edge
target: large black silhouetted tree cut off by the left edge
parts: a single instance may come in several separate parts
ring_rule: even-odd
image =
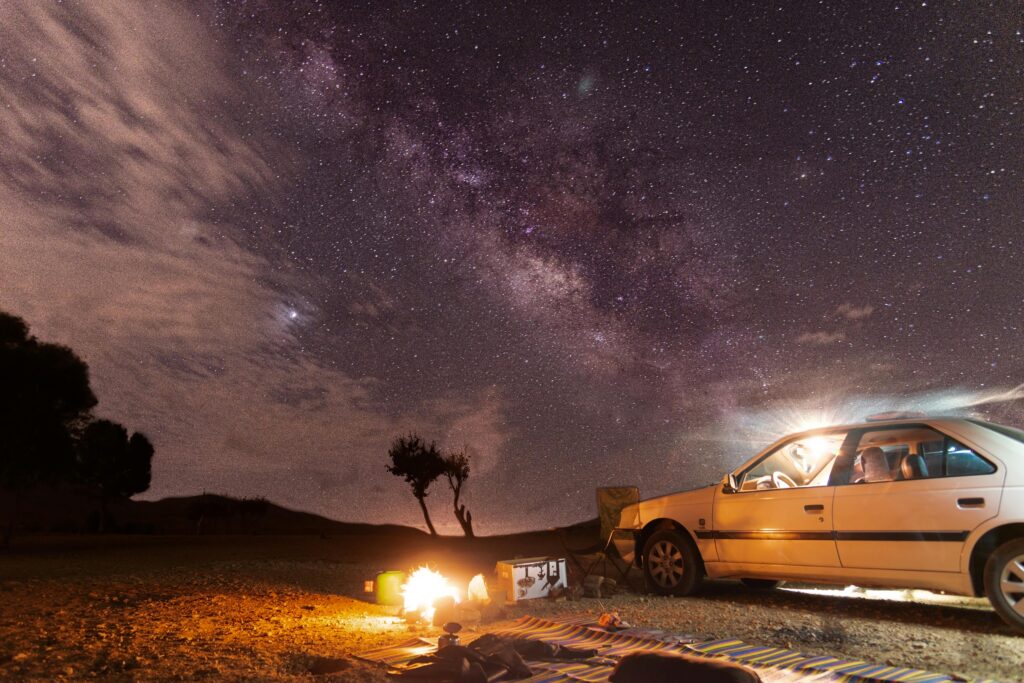
[[[0,312],[0,487],[13,494],[3,547],[23,492],[71,473],[74,439],[95,404],[89,369],[74,351],[38,341],[25,321]]]

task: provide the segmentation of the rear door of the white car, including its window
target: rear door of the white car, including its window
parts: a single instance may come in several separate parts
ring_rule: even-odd
[[[928,425],[864,429],[856,452],[863,480],[835,489],[842,565],[959,571],[968,535],[998,512],[1002,470]]]

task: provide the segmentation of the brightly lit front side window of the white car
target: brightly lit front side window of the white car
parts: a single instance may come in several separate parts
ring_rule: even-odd
[[[829,432],[786,441],[740,475],[739,490],[827,485],[846,435]]]

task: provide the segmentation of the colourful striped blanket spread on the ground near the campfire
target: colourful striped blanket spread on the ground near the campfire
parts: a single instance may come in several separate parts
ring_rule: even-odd
[[[585,617],[592,618],[592,617]],[[537,661],[527,666],[536,672],[530,683],[561,681],[607,681],[618,659],[630,652],[675,652],[720,657],[755,669],[765,683],[783,681],[908,681],[912,683],[944,683],[949,676],[918,669],[872,665],[866,661],[840,659],[830,656],[803,654],[777,647],[748,645],[740,640],[676,638],[663,632],[644,634],[638,630],[611,633],[580,620],[550,621],[523,616],[512,626],[493,631],[499,636],[532,638],[580,649],[596,649],[598,655],[578,661]],[[398,645],[381,647],[357,656],[400,669],[415,657],[432,652],[435,640],[414,638]],[[978,683],[994,683],[991,681]]]

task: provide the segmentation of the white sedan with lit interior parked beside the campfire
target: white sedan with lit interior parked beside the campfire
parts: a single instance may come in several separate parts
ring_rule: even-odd
[[[1024,431],[914,417],[793,434],[626,508],[616,537],[667,595],[705,577],[922,588],[985,595],[1024,632]]]

